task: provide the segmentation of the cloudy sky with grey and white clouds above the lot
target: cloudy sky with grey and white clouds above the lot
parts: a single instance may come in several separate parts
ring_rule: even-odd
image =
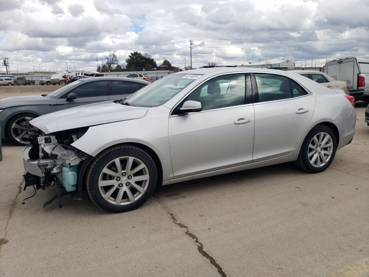
[[[0,0],[0,7],[0,54],[11,72],[39,64],[60,71],[66,61],[96,70],[109,49],[120,63],[140,51],[183,68],[190,39],[195,68],[369,57],[368,0]]]

